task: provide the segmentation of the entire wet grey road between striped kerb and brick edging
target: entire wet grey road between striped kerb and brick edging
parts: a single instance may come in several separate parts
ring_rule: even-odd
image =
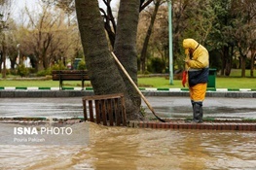
[[[146,97],[162,118],[190,118],[192,107],[188,97]],[[203,102],[204,118],[256,119],[255,98],[214,98]],[[142,101],[146,113],[151,113]],[[1,98],[0,118],[74,118],[83,117],[81,97],[70,98]]]

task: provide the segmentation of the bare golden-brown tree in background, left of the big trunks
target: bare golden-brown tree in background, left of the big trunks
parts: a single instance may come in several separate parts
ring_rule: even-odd
[[[66,64],[81,51],[77,24],[67,20],[65,11],[51,3],[41,3],[41,15],[26,8],[28,21],[19,27],[20,52],[30,56],[36,70],[48,69],[58,62]],[[22,32],[22,33],[21,33]]]

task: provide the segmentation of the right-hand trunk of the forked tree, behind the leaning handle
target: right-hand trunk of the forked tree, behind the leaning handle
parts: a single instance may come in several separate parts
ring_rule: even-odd
[[[114,52],[121,63],[128,71],[129,76],[137,85],[137,51],[136,51],[136,34],[139,17],[138,0],[121,0],[118,15],[118,25]],[[139,113],[141,98],[135,88],[129,83],[128,78],[120,70],[123,80],[126,84],[129,98],[132,102],[128,108],[135,113]]]

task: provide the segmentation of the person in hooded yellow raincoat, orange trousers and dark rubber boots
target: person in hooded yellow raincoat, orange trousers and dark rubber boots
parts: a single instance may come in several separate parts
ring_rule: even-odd
[[[194,39],[184,39],[185,49],[185,74],[182,80],[183,86],[189,86],[190,98],[193,107],[193,120],[202,122],[202,101],[205,98],[208,72],[208,51]]]

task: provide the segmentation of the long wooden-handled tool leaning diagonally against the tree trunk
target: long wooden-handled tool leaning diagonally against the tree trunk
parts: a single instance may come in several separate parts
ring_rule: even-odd
[[[118,65],[120,66],[120,68],[123,70],[123,72],[125,73],[125,75],[128,77],[129,82],[131,83],[131,85],[133,85],[133,87],[136,89],[136,91],[139,93],[140,97],[143,99],[143,101],[146,103],[146,105],[148,106],[148,108],[151,110],[152,114],[159,119],[162,122],[165,122],[164,119],[159,118],[154,109],[151,107],[151,105],[149,104],[148,100],[146,99],[146,97],[142,94],[142,92],[139,90],[139,88],[137,87],[137,85],[135,85],[135,83],[133,82],[133,80],[130,78],[130,76],[128,75],[127,70],[125,69],[125,67],[121,64],[121,62],[118,60],[117,56],[115,55],[115,53],[113,51],[111,51],[111,54],[113,55],[114,59],[117,61]]]

